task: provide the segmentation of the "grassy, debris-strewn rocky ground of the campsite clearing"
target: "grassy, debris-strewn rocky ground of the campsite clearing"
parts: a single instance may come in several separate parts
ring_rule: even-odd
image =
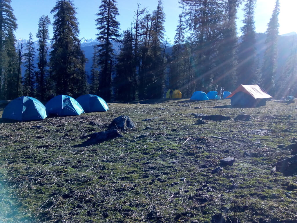
[[[297,222],[296,103],[154,102],[0,120],[0,222]]]

